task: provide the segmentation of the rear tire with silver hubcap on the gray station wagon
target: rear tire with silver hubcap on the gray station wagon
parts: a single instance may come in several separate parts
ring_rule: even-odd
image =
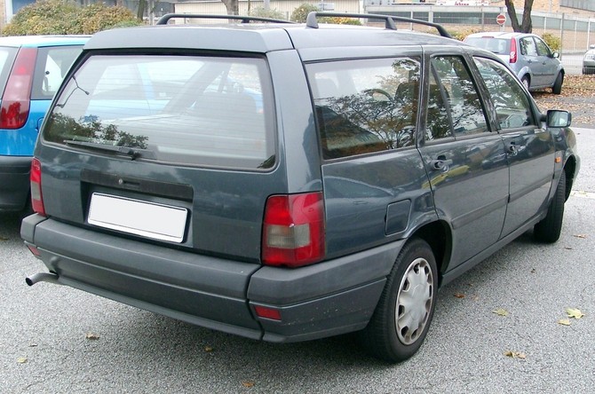
[[[373,356],[409,359],[424,342],[436,303],[438,273],[432,248],[412,239],[401,249],[361,341]]]

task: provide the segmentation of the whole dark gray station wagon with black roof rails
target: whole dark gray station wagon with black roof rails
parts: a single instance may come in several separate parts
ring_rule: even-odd
[[[441,286],[558,240],[570,114],[439,25],[318,24],[337,15],[370,18],[94,35],[36,145],[21,236],[49,272],[27,283],[274,343],[359,331],[394,362]]]

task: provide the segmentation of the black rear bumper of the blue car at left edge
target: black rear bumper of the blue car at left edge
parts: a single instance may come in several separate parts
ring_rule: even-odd
[[[0,209],[25,208],[29,194],[31,157],[0,156]]]

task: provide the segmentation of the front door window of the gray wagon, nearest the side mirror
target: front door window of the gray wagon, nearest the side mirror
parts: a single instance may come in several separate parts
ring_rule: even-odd
[[[500,128],[509,130],[535,125],[529,99],[507,67],[484,58],[475,58],[475,64],[496,107]]]

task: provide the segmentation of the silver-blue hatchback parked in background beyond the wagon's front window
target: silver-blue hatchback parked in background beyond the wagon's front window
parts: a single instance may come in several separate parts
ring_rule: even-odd
[[[496,53],[528,90],[551,88],[554,94],[562,92],[564,67],[559,61],[559,53],[551,51],[538,35],[483,32],[467,35],[464,43]]]

